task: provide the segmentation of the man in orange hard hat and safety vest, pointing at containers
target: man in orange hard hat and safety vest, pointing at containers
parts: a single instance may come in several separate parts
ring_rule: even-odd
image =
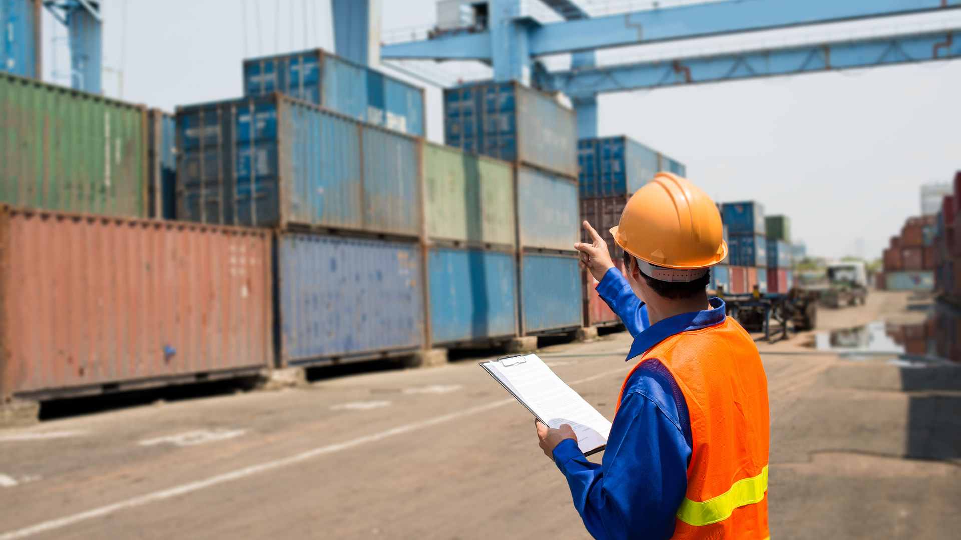
[[[634,342],[602,464],[572,430],[536,423],[595,538],[746,538],[768,532],[767,379],[751,337],[708,300],[727,256],[721,216],[701,189],[660,173],[628,200],[614,241],[576,244],[597,291]]]

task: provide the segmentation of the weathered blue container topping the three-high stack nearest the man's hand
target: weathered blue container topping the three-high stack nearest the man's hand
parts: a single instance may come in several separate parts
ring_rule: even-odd
[[[574,111],[518,83],[477,83],[444,90],[449,146],[577,178]]]

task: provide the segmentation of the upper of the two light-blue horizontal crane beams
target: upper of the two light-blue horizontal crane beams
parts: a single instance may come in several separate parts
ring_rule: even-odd
[[[530,56],[961,8],[961,0],[732,0],[532,25]],[[488,32],[384,45],[382,58],[491,60]]]

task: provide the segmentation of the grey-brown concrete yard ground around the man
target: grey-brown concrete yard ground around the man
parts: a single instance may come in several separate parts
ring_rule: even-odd
[[[923,318],[876,293],[819,325]],[[773,536],[957,538],[961,369],[811,341],[759,343]],[[622,332],[539,355],[610,418],[628,346]],[[478,359],[0,430],[0,540],[586,537],[530,415]]]

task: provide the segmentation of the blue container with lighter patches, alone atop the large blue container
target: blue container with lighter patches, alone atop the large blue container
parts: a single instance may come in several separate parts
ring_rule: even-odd
[[[424,90],[320,49],[243,62],[244,96],[281,92],[361,122],[425,135]]]

